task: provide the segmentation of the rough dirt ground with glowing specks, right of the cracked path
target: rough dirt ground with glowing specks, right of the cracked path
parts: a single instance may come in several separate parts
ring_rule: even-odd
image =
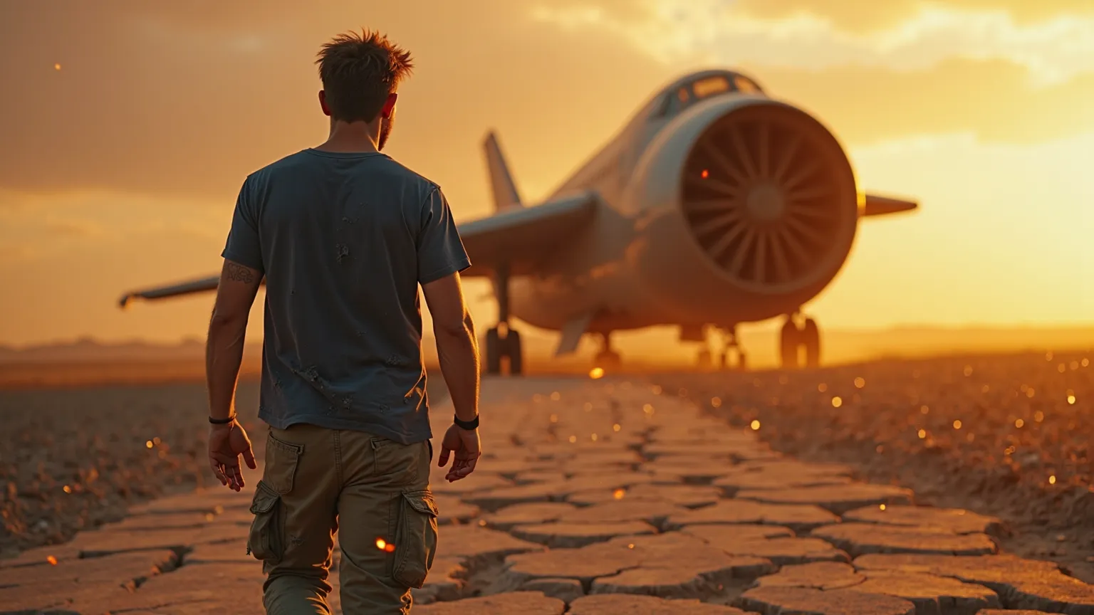
[[[1094,581],[1094,352],[654,379],[776,450],[848,463],[921,504],[1002,518],[1003,547]],[[757,422],[754,422],[757,421]]]

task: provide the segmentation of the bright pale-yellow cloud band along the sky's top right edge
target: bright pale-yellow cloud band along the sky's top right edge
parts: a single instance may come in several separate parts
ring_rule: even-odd
[[[827,14],[790,10],[800,5],[796,2],[781,3],[785,10],[776,3],[758,12],[754,4],[768,7],[650,0],[641,16],[624,18],[610,5],[600,4],[538,4],[533,15],[569,31],[607,31],[664,62],[699,59],[808,70],[845,66],[921,70],[954,58],[1003,59],[1028,68],[1039,84],[1094,71],[1094,12],[1021,22],[999,8],[876,2],[868,14],[900,19],[857,31]]]

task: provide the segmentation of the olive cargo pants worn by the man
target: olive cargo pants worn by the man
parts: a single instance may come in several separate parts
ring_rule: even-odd
[[[410,612],[437,550],[432,445],[312,425],[270,428],[247,549],[263,561],[269,615],[328,615],[339,533],[346,615]],[[340,530],[339,530],[340,527]]]

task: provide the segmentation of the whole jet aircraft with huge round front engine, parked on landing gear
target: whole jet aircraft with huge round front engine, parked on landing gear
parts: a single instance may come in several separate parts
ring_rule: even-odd
[[[523,371],[512,317],[560,333],[556,356],[583,336],[657,325],[680,341],[720,332],[723,368],[744,369],[744,323],[783,318],[783,368],[816,367],[821,333],[803,306],[847,262],[859,220],[910,211],[912,200],[860,192],[834,134],[732,70],[687,74],[659,91],[547,199],[521,198],[493,132],[484,142],[494,212],[458,225],[472,267],[489,278],[499,322],[485,367]],[[217,288],[218,277],[129,292],[164,299]],[[711,363],[700,350],[699,361]]]

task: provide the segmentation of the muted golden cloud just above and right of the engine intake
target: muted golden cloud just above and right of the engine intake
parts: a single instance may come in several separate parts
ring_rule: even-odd
[[[814,72],[756,69],[775,97],[814,113],[850,143],[921,134],[970,132],[986,141],[1034,142],[1094,130],[1094,74],[1036,88],[1002,60],[947,60],[906,73],[847,67]]]

